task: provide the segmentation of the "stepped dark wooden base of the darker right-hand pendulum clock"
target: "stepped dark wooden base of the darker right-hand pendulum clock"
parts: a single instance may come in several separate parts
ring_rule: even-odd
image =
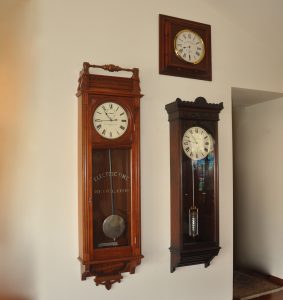
[[[173,273],[176,268],[204,264],[207,268],[210,265],[210,262],[215,256],[218,255],[221,247],[203,247],[202,249],[188,249],[180,251],[179,249],[170,248],[171,252],[171,273]]]

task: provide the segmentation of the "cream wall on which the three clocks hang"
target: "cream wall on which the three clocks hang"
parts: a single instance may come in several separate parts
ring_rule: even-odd
[[[28,33],[26,39],[18,38],[20,53],[24,51],[22,47],[28,46],[37,57],[36,63],[29,58],[27,64],[24,64],[25,57],[19,58],[27,71],[27,74],[24,72],[26,76],[21,77],[21,88],[28,86],[32,90],[13,97],[6,86],[4,102],[1,101],[1,114],[2,107],[8,110],[7,117],[1,119],[1,130],[10,139],[1,149],[1,165],[6,164],[1,170],[6,178],[6,183],[1,186],[1,201],[9,197],[4,205],[5,216],[9,216],[5,221],[9,224],[6,235],[14,237],[16,243],[15,247],[8,243],[11,254],[7,250],[5,257],[10,265],[20,270],[16,276],[29,282],[29,288],[25,288],[19,280],[14,282],[11,275],[8,281],[13,292],[33,294],[36,300],[231,299],[231,86],[282,89],[282,44],[273,48],[272,56],[263,60],[268,46],[258,36],[258,26],[255,26],[258,15],[270,16],[272,5],[259,4],[256,0],[237,1],[237,4],[228,4],[224,0],[197,3],[191,0],[16,2],[25,6],[28,18],[23,19],[31,28],[25,31],[21,18],[7,18],[6,21],[13,25],[13,36],[21,36],[22,31]],[[278,2],[275,4],[280,6]],[[257,14],[254,14],[254,6]],[[10,14],[24,11],[23,7],[5,9]],[[280,11],[278,7],[275,10]],[[158,74],[159,13],[211,24],[212,82]],[[272,20],[266,20],[265,24],[269,29]],[[11,45],[10,49],[14,47]],[[10,53],[6,56],[10,57]],[[135,275],[126,274],[122,283],[114,285],[111,291],[96,287],[92,280],[81,282],[76,260],[75,92],[83,61],[140,68],[141,88],[145,95],[141,104],[142,247],[145,258]],[[13,61],[8,64],[8,69],[14,66]],[[265,72],[261,72],[262,69]],[[13,82],[14,75],[9,75],[9,83]],[[202,265],[192,266],[170,274],[169,125],[164,106],[177,97],[193,100],[197,96],[204,96],[209,102],[224,102],[219,123],[222,249],[207,269]],[[24,113],[14,114],[21,108]],[[19,139],[13,137],[14,132]],[[8,163],[11,154],[13,168]],[[24,247],[26,251],[23,252],[26,244],[29,247]],[[13,261],[15,257],[19,259],[18,264]],[[25,272],[27,268],[29,272]],[[15,273],[9,273],[7,268],[6,274]]]

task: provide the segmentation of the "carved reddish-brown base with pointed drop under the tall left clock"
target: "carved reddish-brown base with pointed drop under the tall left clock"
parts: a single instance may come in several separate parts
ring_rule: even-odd
[[[113,259],[101,262],[89,262],[83,263],[81,261],[81,273],[82,280],[86,280],[87,277],[95,277],[94,282],[96,285],[104,285],[107,290],[110,290],[112,284],[121,282],[123,278],[122,273],[129,272],[134,274],[136,267],[140,265],[143,256]]]

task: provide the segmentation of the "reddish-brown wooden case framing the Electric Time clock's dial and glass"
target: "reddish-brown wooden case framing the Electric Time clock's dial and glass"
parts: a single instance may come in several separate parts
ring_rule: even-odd
[[[131,72],[130,78],[91,74],[90,69],[106,72]],[[78,97],[78,154],[79,154],[79,260],[81,278],[95,276],[96,285],[120,282],[123,272],[135,273],[141,263],[140,227],[140,93],[139,70],[115,65],[83,64],[79,77]],[[126,132],[115,140],[105,139],[93,126],[93,113],[98,105],[113,101],[127,111],[129,125]],[[93,195],[93,149],[129,149],[130,151],[130,211],[127,213],[128,243],[119,247],[98,248],[95,245],[95,201]]]

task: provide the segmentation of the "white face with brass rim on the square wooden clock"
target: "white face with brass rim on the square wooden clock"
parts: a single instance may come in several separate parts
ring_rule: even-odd
[[[179,31],[174,40],[175,53],[182,60],[198,64],[205,54],[205,46],[202,38],[189,29]]]

